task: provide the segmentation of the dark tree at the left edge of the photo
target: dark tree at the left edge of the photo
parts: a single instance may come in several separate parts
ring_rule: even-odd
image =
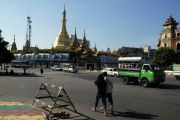
[[[8,42],[4,41],[0,30],[0,65],[2,65],[2,63],[10,63],[14,58],[13,53],[7,49],[8,44]]]

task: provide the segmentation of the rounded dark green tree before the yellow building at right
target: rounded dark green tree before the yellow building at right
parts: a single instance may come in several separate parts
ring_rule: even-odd
[[[169,65],[172,65],[178,61],[177,57],[178,56],[173,49],[161,47],[155,51],[154,63],[167,68]]]

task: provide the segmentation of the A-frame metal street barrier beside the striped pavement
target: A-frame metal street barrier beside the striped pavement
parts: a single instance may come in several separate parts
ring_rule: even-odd
[[[32,105],[37,108],[42,108],[48,120],[51,120],[55,115],[62,115],[60,111],[63,109],[77,113],[65,89],[47,83],[41,84]]]

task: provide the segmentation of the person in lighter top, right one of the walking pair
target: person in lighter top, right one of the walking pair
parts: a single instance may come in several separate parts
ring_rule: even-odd
[[[106,98],[108,99],[111,114],[114,115],[114,113],[113,113],[113,97],[112,97],[113,82],[107,76],[104,79],[106,80],[106,83],[107,83]]]

